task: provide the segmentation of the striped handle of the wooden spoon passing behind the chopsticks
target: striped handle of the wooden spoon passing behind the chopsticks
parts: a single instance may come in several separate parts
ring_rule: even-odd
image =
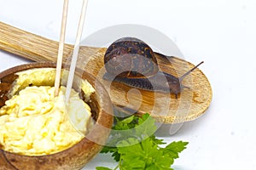
[[[0,49],[34,61],[56,61],[58,42],[0,22]],[[64,58],[72,49],[72,45],[65,44]]]

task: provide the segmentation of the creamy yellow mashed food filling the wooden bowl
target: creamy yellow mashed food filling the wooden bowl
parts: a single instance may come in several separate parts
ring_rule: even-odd
[[[73,90],[66,107],[65,90],[61,87],[55,97],[53,87],[26,87],[7,100],[0,109],[0,148],[26,156],[49,155],[83,139],[92,123],[90,106]]]

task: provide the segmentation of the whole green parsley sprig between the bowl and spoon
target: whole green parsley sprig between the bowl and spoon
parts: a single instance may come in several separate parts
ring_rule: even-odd
[[[149,114],[129,116],[123,120],[116,118],[111,138],[101,153],[111,153],[113,159],[119,162],[114,170],[173,170],[174,159],[189,143],[174,141],[160,147],[160,144],[166,143],[154,136],[156,128],[154,118]],[[112,169],[96,167],[96,170]]]

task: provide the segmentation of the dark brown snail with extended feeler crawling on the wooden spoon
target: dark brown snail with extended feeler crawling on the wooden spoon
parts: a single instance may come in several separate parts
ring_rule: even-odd
[[[183,86],[183,79],[199,66],[182,77],[160,71],[153,50],[135,37],[122,37],[113,42],[104,55],[104,65],[107,71],[103,76],[105,80],[147,91],[175,94],[176,99],[183,88],[189,88]]]

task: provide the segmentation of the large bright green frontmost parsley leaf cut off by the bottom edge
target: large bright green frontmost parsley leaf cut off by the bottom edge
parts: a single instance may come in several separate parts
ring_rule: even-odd
[[[125,145],[129,145],[126,146]],[[160,150],[157,144],[150,138],[141,143],[134,139],[127,139],[117,145],[121,155],[120,167],[123,169],[171,169],[173,158]],[[136,158],[136,159],[135,159]]]

